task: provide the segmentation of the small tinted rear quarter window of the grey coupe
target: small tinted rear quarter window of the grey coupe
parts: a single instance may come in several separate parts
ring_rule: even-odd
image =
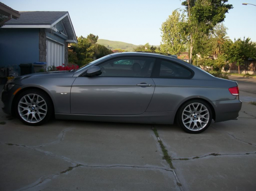
[[[153,77],[188,79],[192,75],[193,73],[189,69],[179,64],[159,59]]]

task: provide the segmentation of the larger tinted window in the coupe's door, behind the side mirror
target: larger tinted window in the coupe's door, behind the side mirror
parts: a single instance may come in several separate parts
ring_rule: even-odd
[[[104,62],[100,65],[100,76],[122,77],[150,77],[155,58],[148,57],[120,57]]]

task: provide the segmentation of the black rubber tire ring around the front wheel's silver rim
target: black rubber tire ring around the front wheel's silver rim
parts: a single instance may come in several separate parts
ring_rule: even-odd
[[[18,112],[18,103],[19,103],[20,99],[22,99],[25,95],[31,94],[31,93],[40,95],[44,99],[44,101],[47,105],[46,116],[44,117],[44,119],[42,119],[41,121],[39,121],[37,123],[29,123],[29,122],[25,121],[24,119],[22,119],[22,117],[20,117],[19,112]],[[16,103],[15,103],[15,114],[19,118],[19,120],[22,121],[23,123],[25,123],[26,125],[31,125],[31,126],[41,125],[41,124],[47,122],[52,117],[52,114],[53,114],[52,100],[49,97],[49,95],[42,90],[38,90],[38,89],[26,90],[26,91],[20,93],[17,97]]]

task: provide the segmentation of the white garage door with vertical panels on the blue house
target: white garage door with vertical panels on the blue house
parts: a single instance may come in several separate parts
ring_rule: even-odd
[[[57,42],[47,39],[47,68],[48,66],[62,66],[64,64],[64,47]]]

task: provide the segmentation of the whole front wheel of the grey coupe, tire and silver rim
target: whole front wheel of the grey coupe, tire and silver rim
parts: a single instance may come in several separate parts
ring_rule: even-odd
[[[51,98],[39,89],[26,90],[16,99],[16,115],[26,125],[38,126],[47,122],[53,116],[53,111]]]

